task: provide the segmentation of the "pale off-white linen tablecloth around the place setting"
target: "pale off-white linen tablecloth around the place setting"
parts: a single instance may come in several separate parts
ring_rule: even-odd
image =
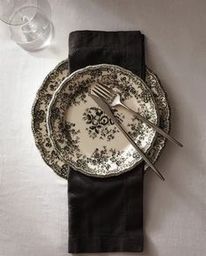
[[[146,35],[147,65],[168,92],[171,134],[184,145],[168,143],[156,163],[166,181],[152,172],[145,175],[141,255],[206,255],[206,2],[50,4],[55,36],[45,50],[25,52],[0,25],[0,255],[68,255],[67,182],[38,153],[31,106],[45,75],[67,57],[69,32],[82,29],[141,30]]]

